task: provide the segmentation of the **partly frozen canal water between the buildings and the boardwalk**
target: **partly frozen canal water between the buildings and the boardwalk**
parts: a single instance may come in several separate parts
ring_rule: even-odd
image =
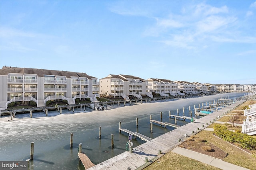
[[[156,138],[168,131],[172,127],[162,128],[153,125],[153,133],[150,133],[150,115],[152,119],[174,123],[174,119],[169,119],[171,114],[183,114],[190,116],[188,107],[193,111],[194,105],[202,102],[211,102],[220,98],[236,98],[243,96],[242,93],[228,93],[214,96],[203,96],[167,102],[156,102],[152,104],[141,104],[107,110],[92,111],[86,108],[81,113],[80,108],[75,109],[74,113],[62,110],[62,115],[57,111],[49,111],[48,117],[44,113],[33,113],[30,118],[29,113],[18,114],[14,121],[7,121],[8,118],[0,118],[0,160],[26,160],[30,157],[30,143],[34,142],[34,160],[31,161],[30,169],[64,169],[75,170],[84,169],[78,164],[78,144],[82,143],[82,150],[92,160],[94,164],[103,162],[113,156],[126,151],[128,134],[119,133],[119,121],[122,128],[141,133],[150,138]],[[117,106],[116,106],[117,107]],[[136,117],[138,125],[136,127]],[[199,117],[198,117],[199,118]],[[190,121],[177,121],[178,125],[184,125]],[[102,127],[102,136],[99,139],[99,127]],[[70,133],[74,133],[73,148],[70,149]],[[111,148],[111,133],[114,134],[114,149]],[[141,145],[144,141],[132,140],[134,147]]]

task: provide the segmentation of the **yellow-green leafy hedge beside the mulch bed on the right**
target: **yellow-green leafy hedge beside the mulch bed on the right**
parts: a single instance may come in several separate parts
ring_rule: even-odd
[[[214,125],[214,134],[225,141],[238,143],[240,147],[256,150],[256,138],[243,133],[234,133],[229,131],[226,126]]]

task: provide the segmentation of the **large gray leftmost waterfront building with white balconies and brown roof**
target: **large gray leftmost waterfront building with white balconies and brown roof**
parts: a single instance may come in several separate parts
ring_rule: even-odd
[[[80,72],[45,70],[38,68],[6,67],[0,69],[0,108],[11,102],[34,101],[37,107],[48,100],[67,100],[99,97],[97,78]]]

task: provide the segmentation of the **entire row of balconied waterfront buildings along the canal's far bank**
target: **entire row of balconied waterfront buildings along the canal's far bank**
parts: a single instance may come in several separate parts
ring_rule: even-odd
[[[246,90],[245,90],[246,89]],[[96,101],[100,96],[142,98],[153,94],[177,96],[215,91],[256,91],[256,85],[202,84],[198,82],[109,74],[105,78],[81,72],[45,70],[38,68],[2,67],[0,69],[0,109],[11,102],[34,101],[38,107],[48,100],[67,100],[74,104],[77,98]]]

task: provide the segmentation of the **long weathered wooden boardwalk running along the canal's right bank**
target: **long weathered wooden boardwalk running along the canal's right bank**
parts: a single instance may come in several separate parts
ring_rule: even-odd
[[[159,157],[159,150],[162,151],[162,154],[169,152],[181,144],[182,141],[185,141],[186,135],[189,137],[205,129],[208,125],[214,123],[228,111],[232,110],[243,102],[245,102],[245,100],[237,101],[234,104],[218,110],[218,112],[214,111],[210,115],[196,119],[194,122],[190,122],[186,125],[183,125],[182,127],[174,129],[173,131],[160,135],[159,137],[156,137],[149,142],[143,143],[142,145],[133,148],[132,152],[123,152],[117,156],[114,156],[113,158],[101,162],[100,164],[92,166],[89,168],[89,170],[127,170],[128,168],[131,170],[141,170],[143,167],[146,167],[146,164],[149,163],[145,163],[146,157],[150,162],[154,159],[157,159]]]

